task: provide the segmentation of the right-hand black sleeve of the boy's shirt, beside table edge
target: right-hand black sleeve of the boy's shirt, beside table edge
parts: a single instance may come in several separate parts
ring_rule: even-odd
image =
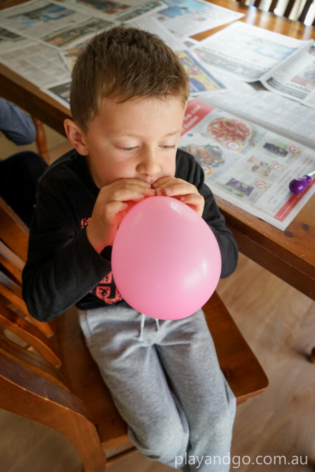
[[[219,212],[210,188],[204,183],[204,172],[193,156],[177,151],[176,177],[192,183],[204,198],[202,218],[208,224],[220,248],[221,278],[228,277],[237,266],[238,249],[232,232],[226,227],[224,216]]]

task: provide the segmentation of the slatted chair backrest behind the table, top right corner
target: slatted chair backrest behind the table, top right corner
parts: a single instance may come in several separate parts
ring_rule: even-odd
[[[253,5],[254,7],[265,10],[265,1],[264,0],[250,0],[249,3],[246,0],[236,0],[239,1],[242,5]],[[268,12],[276,13],[276,9],[281,9],[283,13],[281,16],[289,18],[291,20],[297,20],[301,23],[304,23],[307,13],[310,11],[312,5],[312,0],[271,0],[271,3],[267,9]],[[312,26],[315,25],[315,19],[313,19]]]

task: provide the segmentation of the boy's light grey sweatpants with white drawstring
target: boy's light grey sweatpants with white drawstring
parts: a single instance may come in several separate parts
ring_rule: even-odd
[[[236,402],[203,312],[164,321],[109,306],[79,322],[135,446],[173,468],[227,472]]]

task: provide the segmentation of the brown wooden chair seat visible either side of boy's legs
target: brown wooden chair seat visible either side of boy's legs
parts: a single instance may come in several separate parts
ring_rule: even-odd
[[[203,311],[218,354],[220,367],[240,403],[268,386],[256,357],[237,329],[216,293]],[[69,388],[82,400],[92,418],[104,449],[129,441],[125,422],[119,416],[110,393],[92,359],[77,321],[75,307],[51,322],[63,361],[62,372]]]

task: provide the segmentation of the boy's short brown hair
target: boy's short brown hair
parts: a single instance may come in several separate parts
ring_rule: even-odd
[[[96,35],[78,57],[70,89],[72,119],[86,133],[103,99],[175,96],[185,105],[188,75],[177,55],[143,30],[113,27]]]

